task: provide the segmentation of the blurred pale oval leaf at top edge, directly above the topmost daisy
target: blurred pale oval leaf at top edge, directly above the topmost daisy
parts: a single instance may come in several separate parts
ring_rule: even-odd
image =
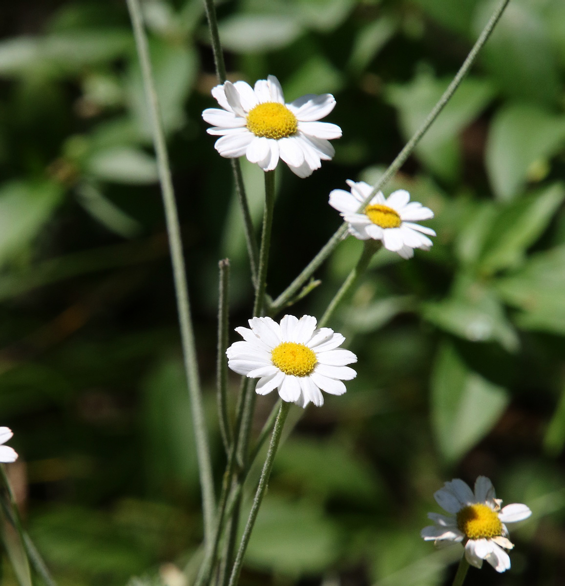
[[[239,14],[220,22],[224,49],[236,53],[260,53],[290,45],[303,32],[291,15]]]

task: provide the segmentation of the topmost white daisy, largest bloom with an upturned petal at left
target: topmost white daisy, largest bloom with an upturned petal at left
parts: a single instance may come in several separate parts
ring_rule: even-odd
[[[263,171],[273,171],[280,157],[295,175],[308,177],[335,153],[328,139],[341,137],[341,128],[317,122],[333,110],[331,94],[307,94],[285,104],[281,84],[270,75],[254,88],[226,81],[213,88],[212,96],[223,110],[208,108],[202,118],[214,125],[208,134],[221,137],[215,147],[222,156],[246,155]]]

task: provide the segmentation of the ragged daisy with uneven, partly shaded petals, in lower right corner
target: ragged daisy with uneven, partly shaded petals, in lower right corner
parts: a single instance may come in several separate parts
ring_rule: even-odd
[[[469,564],[480,568],[486,560],[497,572],[509,570],[510,558],[504,550],[514,545],[508,539],[505,523],[516,523],[532,515],[526,505],[515,503],[501,509],[502,500],[496,498],[486,476],[476,479],[475,493],[467,483],[455,478],[446,482],[434,498],[451,515],[428,513],[435,525],[422,529],[421,536],[426,541],[462,541]]]

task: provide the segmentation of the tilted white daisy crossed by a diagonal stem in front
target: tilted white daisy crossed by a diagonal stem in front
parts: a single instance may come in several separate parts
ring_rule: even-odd
[[[364,181],[356,183],[348,179],[347,184],[351,191],[334,189],[329,194],[329,205],[349,223],[349,232],[353,236],[359,240],[382,240],[384,248],[402,258],[413,257],[414,248],[430,250],[433,242],[424,234],[435,236],[434,230],[414,223],[433,218],[434,212],[430,208],[410,202],[410,193],[399,189],[388,199],[379,191],[365,210],[358,212],[373,188]]]

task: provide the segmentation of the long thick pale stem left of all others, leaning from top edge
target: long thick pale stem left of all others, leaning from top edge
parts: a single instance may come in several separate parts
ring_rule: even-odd
[[[171,262],[175,282],[176,304],[179,314],[179,324],[181,326],[182,353],[185,363],[196,437],[196,455],[198,458],[204,512],[204,537],[206,547],[209,547],[214,530],[214,484],[212,479],[210,448],[206,432],[206,420],[202,405],[202,391],[200,390],[198,363],[196,362],[195,339],[192,328],[192,318],[190,316],[185,260],[182,253],[181,227],[179,225],[178,213],[176,210],[175,194],[173,192],[171,180],[171,168],[169,166],[165,134],[159,118],[158,98],[155,91],[154,77],[151,71],[149,48],[141,19],[139,0],[127,0],[127,5],[130,11],[130,18],[135,35],[135,45],[137,46],[139,63],[141,65],[145,97],[147,98],[149,118],[151,119],[153,144],[157,156],[159,182],[161,183],[161,193],[165,207],[166,227],[169,235],[169,247],[171,249]]]

